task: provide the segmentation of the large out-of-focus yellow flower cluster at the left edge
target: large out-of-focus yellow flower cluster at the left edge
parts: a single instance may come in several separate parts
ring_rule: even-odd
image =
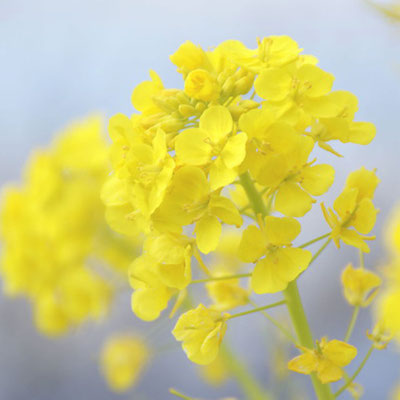
[[[101,317],[113,287],[109,276],[94,267],[112,266],[121,275],[134,254],[132,244],[124,247],[125,239],[104,219],[99,193],[108,169],[101,120],[92,117],[36,151],[23,183],[4,191],[5,290],[30,299],[36,325],[48,335]]]

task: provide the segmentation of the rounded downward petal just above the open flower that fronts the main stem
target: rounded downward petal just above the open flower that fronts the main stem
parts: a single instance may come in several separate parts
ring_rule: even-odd
[[[275,210],[289,217],[302,217],[312,207],[314,199],[296,183],[282,184],[275,197]]]

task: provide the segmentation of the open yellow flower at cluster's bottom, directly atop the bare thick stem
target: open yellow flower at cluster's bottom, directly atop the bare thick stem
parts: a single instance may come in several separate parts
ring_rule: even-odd
[[[290,217],[267,216],[264,226],[250,225],[243,232],[239,258],[244,262],[257,262],[251,287],[256,293],[280,292],[295,280],[311,261],[308,250],[291,247],[301,226]],[[265,256],[265,258],[260,259]]]

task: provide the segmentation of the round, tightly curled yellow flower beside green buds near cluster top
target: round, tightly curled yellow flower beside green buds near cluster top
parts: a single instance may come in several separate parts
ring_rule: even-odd
[[[184,90],[189,97],[206,102],[216,100],[220,93],[217,80],[204,69],[189,72],[185,79]]]

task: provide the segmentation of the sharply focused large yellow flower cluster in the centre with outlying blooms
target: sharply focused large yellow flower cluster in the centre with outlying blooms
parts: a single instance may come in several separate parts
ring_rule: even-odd
[[[211,304],[183,313],[173,330],[188,358],[204,365],[217,359],[231,319],[285,302],[293,311],[295,281],[318,256],[304,248],[308,244],[293,245],[301,233],[296,218],[312,209],[335,175],[330,164],[317,162],[316,152],[341,157],[335,141],[366,145],[375,127],[355,121],[357,98],[333,91],[334,77],[287,36],[258,40],[255,49],[229,40],[206,51],[188,41],[170,59],[183,89],[165,88],[151,71],[132,93],[137,113],[110,120],[113,173],[102,199],[114,230],[144,233],[142,253],[129,268],[139,318],[157,319],[173,297],[175,314],[193,302],[189,285],[205,284]],[[369,251],[365,240],[373,237],[365,235],[375,224],[377,184],[375,171],[362,168],[350,174],[333,209],[322,205],[331,228],[322,237],[326,245],[333,239]],[[207,267],[203,255],[218,258],[232,232],[235,261]],[[343,276],[346,298],[366,306],[379,278],[350,268]],[[197,279],[198,273],[206,277]],[[248,277],[250,289],[240,283]],[[286,300],[226,313],[254,305],[252,292],[283,292]],[[344,342],[323,339],[314,349],[312,339],[302,339],[304,354],[290,367],[317,371],[322,383],[341,379],[356,354]],[[312,362],[299,367],[306,357]]]

